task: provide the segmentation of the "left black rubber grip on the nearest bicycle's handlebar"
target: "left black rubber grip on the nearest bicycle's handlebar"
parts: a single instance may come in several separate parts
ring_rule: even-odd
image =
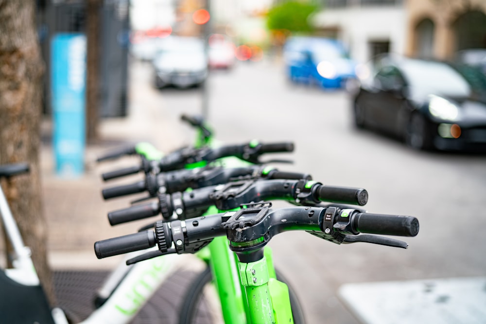
[[[97,258],[102,259],[108,256],[118,256],[129,252],[145,250],[155,246],[155,244],[154,232],[143,231],[95,242],[94,252]]]

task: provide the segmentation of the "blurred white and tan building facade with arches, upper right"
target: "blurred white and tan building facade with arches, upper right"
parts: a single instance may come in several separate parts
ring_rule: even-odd
[[[449,59],[486,48],[486,0],[326,0],[318,33],[342,40],[361,62],[383,52]]]

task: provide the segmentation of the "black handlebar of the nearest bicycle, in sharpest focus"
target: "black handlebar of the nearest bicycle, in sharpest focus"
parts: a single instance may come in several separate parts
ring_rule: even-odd
[[[333,243],[367,242],[406,248],[405,242],[359,233],[416,236],[418,220],[412,216],[362,213],[336,207],[289,207],[271,209],[271,204],[250,204],[239,211],[191,219],[191,222],[156,222],[155,231],[144,231],[95,243],[98,258],[142,250],[158,245],[159,255],[193,253],[210,240],[225,235],[230,249],[248,257],[284,231],[305,230]],[[168,251],[174,242],[175,251]]]

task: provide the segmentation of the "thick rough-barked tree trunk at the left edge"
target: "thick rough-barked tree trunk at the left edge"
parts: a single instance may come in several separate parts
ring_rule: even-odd
[[[37,274],[53,305],[39,174],[42,75],[35,1],[0,0],[0,163],[28,162],[29,175],[2,183]]]

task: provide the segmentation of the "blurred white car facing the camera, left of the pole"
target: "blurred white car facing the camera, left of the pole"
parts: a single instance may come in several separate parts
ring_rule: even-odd
[[[157,88],[201,85],[208,77],[208,56],[204,41],[196,37],[164,38],[152,66]]]

